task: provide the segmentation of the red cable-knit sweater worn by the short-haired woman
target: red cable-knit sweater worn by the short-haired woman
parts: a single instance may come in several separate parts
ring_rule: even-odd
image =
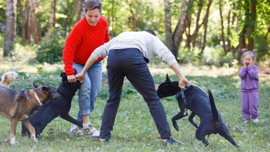
[[[86,17],[76,23],[66,39],[63,51],[66,75],[75,74],[73,62],[85,64],[92,52],[109,40],[108,22],[105,17],[101,16],[96,26],[90,26]],[[103,59],[98,58],[96,62]]]

